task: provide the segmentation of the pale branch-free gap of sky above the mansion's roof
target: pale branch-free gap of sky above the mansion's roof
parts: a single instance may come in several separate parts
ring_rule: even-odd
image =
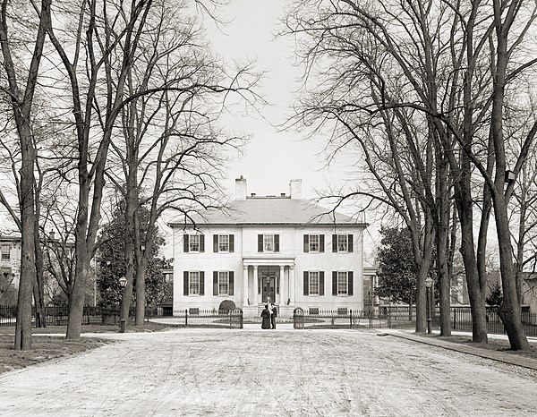
[[[320,138],[307,140],[304,132],[278,132],[277,125],[291,114],[295,91],[300,88],[302,69],[294,65],[294,41],[275,37],[278,19],[284,13],[284,0],[231,0],[220,15],[229,23],[217,30],[209,19],[204,20],[209,40],[218,55],[227,60],[256,61],[256,69],[265,72],[260,94],[270,106],[260,115],[229,116],[225,122],[240,126],[251,135],[243,157],[234,156],[225,187],[234,194],[234,179],[243,175],[248,192],[258,195],[289,192],[289,181],[303,180],[303,198],[317,197],[317,190],[328,183],[339,182],[334,171],[327,169],[320,155]],[[226,126],[224,126],[226,127]]]

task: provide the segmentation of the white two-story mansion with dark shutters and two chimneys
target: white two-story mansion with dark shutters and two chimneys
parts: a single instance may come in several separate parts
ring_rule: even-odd
[[[290,195],[247,196],[235,180],[235,200],[209,210],[196,226],[174,230],[174,313],[218,309],[232,300],[245,317],[268,300],[279,315],[364,308],[362,234],[367,226],[301,199],[302,180]]]

